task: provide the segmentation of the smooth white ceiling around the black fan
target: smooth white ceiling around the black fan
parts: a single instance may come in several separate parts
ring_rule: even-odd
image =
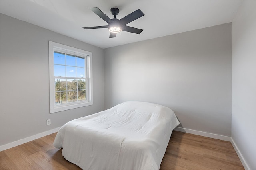
[[[50,29],[74,39],[108,48],[175,33],[232,22],[243,0],[0,0],[0,13]],[[122,31],[109,38],[108,25],[89,8],[98,7],[109,18],[110,9],[119,8],[116,18],[140,9],[145,16],[128,23],[144,29],[140,35]]]

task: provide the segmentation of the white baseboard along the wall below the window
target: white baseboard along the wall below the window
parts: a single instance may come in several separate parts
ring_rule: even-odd
[[[3,150],[6,150],[6,149],[10,149],[12,147],[16,147],[18,145],[21,145],[23,143],[27,143],[27,142],[30,142],[30,141],[33,141],[35,139],[38,139],[40,137],[44,137],[46,135],[50,135],[52,133],[55,133],[55,132],[58,132],[60,129],[60,127],[57,127],[55,129],[51,129],[49,131],[45,131],[45,132],[42,132],[42,133],[38,133],[36,135],[33,135],[33,136],[30,136],[30,137],[26,137],[24,139],[20,139],[18,141],[14,141],[14,142],[11,142],[11,143],[7,143],[5,145],[2,145],[0,146],[0,152],[3,151]]]

